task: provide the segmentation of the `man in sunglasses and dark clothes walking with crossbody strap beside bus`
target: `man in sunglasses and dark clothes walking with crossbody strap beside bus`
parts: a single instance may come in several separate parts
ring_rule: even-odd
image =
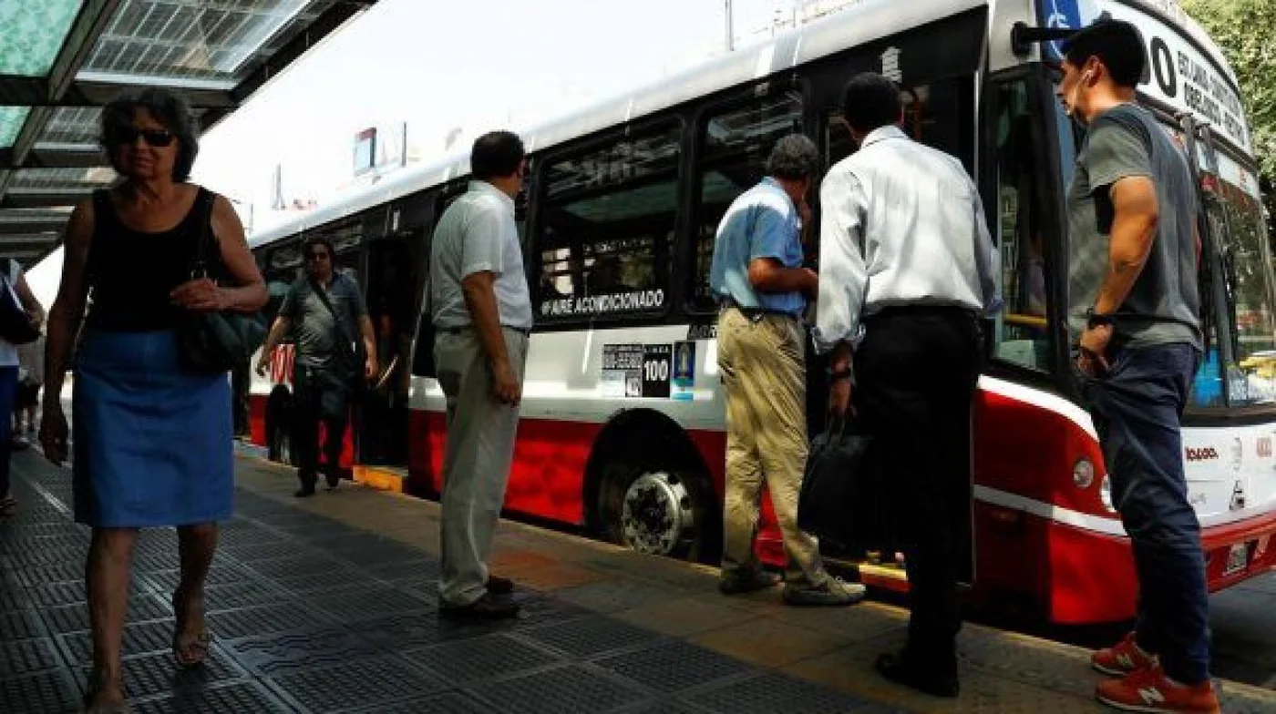
[[[297,497],[315,492],[319,479],[319,425],[324,426],[324,476],[328,488],[341,479],[341,450],[350,413],[350,397],[359,379],[376,376],[376,337],[364,293],[355,278],[334,269],[332,242],[314,237],[302,247],[305,274],[279,306],[262,347],[256,371],[263,374],[271,353],[286,334],[296,339],[292,366],[292,445],[297,451]],[[362,343],[362,351],[357,349]],[[360,353],[361,352],[361,353]]]

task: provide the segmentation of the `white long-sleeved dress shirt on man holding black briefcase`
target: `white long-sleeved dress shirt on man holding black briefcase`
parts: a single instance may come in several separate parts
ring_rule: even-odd
[[[1000,307],[997,246],[956,158],[883,126],[828,171],[819,203],[820,352],[857,343],[861,320],[892,305]]]

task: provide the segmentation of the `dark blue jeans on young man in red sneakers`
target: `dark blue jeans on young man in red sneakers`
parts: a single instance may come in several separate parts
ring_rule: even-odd
[[[1113,357],[1108,375],[1081,380],[1134,550],[1134,638],[1160,655],[1169,677],[1196,685],[1210,677],[1210,602],[1179,419],[1201,356],[1189,344],[1164,344]]]

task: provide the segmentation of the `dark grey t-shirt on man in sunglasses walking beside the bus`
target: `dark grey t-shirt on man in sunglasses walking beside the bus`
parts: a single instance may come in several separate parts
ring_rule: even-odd
[[[359,319],[367,315],[364,293],[355,278],[337,273],[328,283],[328,301],[341,315],[342,325],[333,320],[332,312],[315,293],[315,283],[308,277],[297,278],[283,296],[279,315],[292,323],[292,334],[297,340],[296,361],[306,367],[336,366],[338,339],[359,339]]]

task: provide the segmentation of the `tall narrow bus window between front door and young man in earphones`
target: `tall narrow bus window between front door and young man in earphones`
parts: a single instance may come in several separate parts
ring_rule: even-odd
[[[997,358],[1044,371],[1050,366],[1049,291],[1028,85],[1012,82],[998,92],[997,214],[991,228],[1002,251],[1005,305],[998,316]]]

